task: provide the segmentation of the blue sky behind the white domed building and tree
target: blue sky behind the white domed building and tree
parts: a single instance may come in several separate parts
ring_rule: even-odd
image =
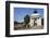
[[[36,9],[37,12],[43,17],[43,9]],[[34,14],[35,8],[14,8],[14,21],[23,22],[25,15]]]

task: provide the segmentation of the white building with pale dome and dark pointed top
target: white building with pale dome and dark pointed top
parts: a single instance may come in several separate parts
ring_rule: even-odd
[[[37,11],[34,12],[34,14],[30,15],[30,22],[29,25],[32,26],[41,26],[42,25],[42,17],[40,17],[40,14],[37,13]]]

